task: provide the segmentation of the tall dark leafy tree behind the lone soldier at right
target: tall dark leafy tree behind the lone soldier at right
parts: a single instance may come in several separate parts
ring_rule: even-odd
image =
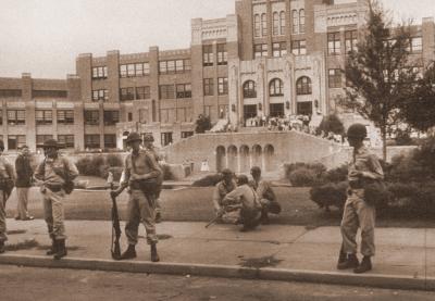
[[[400,122],[400,104],[412,93],[417,72],[409,60],[410,27],[393,26],[376,0],[369,0],[366,27],[358,50],[347,57],[346,95],[341,105],[372,121],[381,129],[383,158],[386,137]]]

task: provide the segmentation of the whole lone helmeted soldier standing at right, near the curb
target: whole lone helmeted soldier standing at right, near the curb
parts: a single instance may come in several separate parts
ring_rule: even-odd
[[[353,268],[357,274],[372,269],[371,256],[375,254],[374,224],[375,208],[364,200],[364,187],[373,181],[382,180],[384,173],[377,158],[364,147],[365,126],[353,124],[347,131],[349,145],[353,147],[353,159],[349,163],[348,198],[345,204],[341,236],[343,246],[338,260],[338,269]],[[356,236],[361,228],[361,264],[357,258]]]

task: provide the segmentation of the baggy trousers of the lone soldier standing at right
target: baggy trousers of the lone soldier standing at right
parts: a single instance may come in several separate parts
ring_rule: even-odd
[[[349,190],[341,221],[341,236],[344,252],[356,254],[358,251],[357,233],[361,228],[361,253],[364,256],[374,256],[374,227],[375,208],[368,205],[363,200],[363,189]]]

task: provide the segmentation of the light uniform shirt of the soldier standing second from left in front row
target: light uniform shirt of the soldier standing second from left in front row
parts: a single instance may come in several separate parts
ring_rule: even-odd
[[[61,176],[63,175],[63,176]],[[70,180],[78,176],[77,167],[64,156],[55,159],[46,158],[38,166],[35,177],[44,184],[61,186],[65,184],[65,178]]]

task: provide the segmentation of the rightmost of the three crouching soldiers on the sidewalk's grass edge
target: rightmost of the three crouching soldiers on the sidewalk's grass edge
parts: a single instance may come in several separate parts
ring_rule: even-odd
[[[251,168],[251,176],[253,180],[250,185],[256,190],[262,205],[261,223],[265,225],[269,224],[269,213],[281,213],[281,204],[276,200],[271,183],[261,178],[260,167],[253,166]]]

